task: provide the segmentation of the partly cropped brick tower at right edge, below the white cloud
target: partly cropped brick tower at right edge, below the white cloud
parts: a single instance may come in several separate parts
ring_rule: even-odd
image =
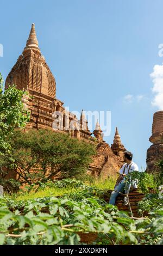
[[[163,111],[153,115],[152,136],[149,141],[153,145],[147,150],[147,172],[155,173],[159,171],[156,164],[163,159]]]

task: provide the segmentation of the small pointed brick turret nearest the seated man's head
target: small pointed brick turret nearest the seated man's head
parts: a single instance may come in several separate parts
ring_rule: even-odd
[[[112,149],[113,153],[116,156],[120,156],[121,161],[123,161],[123,159],[124,159],[124,151],[126,149],[124,148],[124,145],[121,142],[121,137],[120,137],[120,134],[118,132],[117,127],[116,127],[115,136],[114,136],[114,142],[111,145],[111,149]]]

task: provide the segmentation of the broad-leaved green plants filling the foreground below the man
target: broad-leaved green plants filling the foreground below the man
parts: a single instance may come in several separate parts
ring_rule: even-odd
[[[69,192],[55,197],[0,200],[1,245],[80,245],[83,233],[88,234],[85,243],[96,245],[163,244],[163,199],[158,193],[153,204],[149,194],[140,203],[141,214],[148,215],[134,219],[106,203],[104,190],[74,179],[53,183],[53,189],[59,186]],[[91,241],[92,234],[96,239]]]

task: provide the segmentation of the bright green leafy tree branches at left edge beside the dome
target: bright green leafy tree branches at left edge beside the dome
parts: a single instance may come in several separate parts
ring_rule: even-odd
[[[16,127],[23,127],[29,120],[29,113],[22,103],[23,94],[15,85],[3,93],[3,78],[0,73],[0,155],[9,153],[11,149],[7,137]]]

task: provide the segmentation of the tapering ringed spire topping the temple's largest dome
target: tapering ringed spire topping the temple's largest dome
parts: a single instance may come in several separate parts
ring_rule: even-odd
[[[30,34],[27,40],[27,44],[26,47],[24,48],[24,50],[28,49],[28,48],[32,48],[33,50],[39,51],[39,42],[37,40],[36,37],[36,31],[35,31],[35,25],[34,23],[32,23],[32,28],[30,29]]]

